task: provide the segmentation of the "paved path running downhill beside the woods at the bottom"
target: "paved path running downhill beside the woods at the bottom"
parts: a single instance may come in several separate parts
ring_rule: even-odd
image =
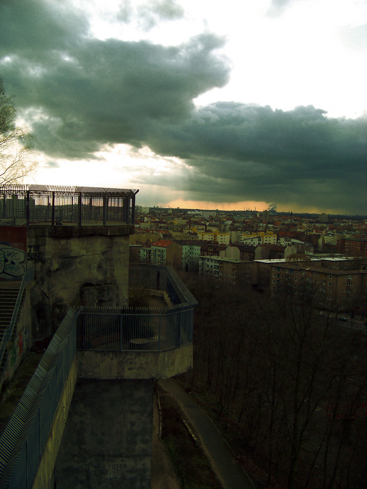
[[[173,379],[160,380],[159,385],[172,397],[179,401],[187,417],[200,437],[213,468],[226,489],[253,489],[253,485],[240,467],[223,440],[218,429],[195,400],[186,394],[184,389]]]

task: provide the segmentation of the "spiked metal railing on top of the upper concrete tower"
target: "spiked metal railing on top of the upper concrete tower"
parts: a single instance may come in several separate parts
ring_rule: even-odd
[[[137,193],[117,188],[4,185],[0,186],[0,224],[134,224]]]

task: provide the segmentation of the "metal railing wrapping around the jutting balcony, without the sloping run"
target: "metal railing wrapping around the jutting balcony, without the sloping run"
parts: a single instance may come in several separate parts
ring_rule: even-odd
[[[171,306],[112,308],[84,306],[78,350],[164,352],[192,343],[196,299],[172,267],[130,264],[129,288],[166,292]]]

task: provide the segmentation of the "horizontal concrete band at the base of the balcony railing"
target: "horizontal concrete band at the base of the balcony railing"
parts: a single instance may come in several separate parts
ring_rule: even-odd
[[[192,368],[192,344],[168,352],[78,351],[81,378],[170,378]]]

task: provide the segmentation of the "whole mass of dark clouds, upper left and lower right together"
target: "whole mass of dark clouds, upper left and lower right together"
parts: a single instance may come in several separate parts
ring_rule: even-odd
[[[175,5],[150,3],[156,12],[163,4]],[[195,97],[228,80],[228,63],[216,55],[221,39],[205,34],[175,47],[99,41],[81,13],[63,5],[0,5],[0,76],[40,151],[79,159],[105,144],[147,145],[186,166],[172,163],[171,172],[140,181],[188,199],[366,213],[366,118],[234,102],[195,109]]]

